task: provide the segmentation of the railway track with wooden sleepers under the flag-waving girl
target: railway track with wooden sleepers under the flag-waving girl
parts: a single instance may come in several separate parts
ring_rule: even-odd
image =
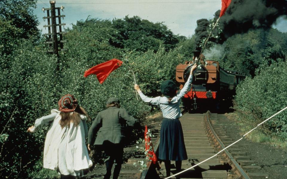
[[[155,135],[152,138],[154,150],[157,152],[159,144],[159,130],[162,118],[156,118],[153,124],[148,128]],[[218,153],[225,146],[233,143],[233,139],[229,138],[220,121],[217,120],[217,114],[210,112],[204,114],[185,113],[181,119],[184,133],[184,141],[187,150],[188,159],[182,161],[182,169],[188,169],[201,161]],[[266,174],[262,173],[246,173],[248,168],[257,166],[250,165],[252,161],[248,159],[246,153],[238,152],[236,147],[224,150],[204,163],[190,169],[180,175],[179,178],[187,179],[248,179],[248,178],[266,178]],[[231,153],[231,154],[230,154]],[[147,163],[147,167],[143,172],[139,172],[140,167],[134,166],[137,161],[144,161],[144,155],[135,155],[129,158],[123,164],[120,173],[120,179],[163,179],[166,178],[164,162],[160,163],[161,170],[156,170],[154,164]],[[239,164],[240,163],[240,164]],[[172,161],[172,175],[175,174],[175,162]],[[175,177],[172,177],[175,178]]]

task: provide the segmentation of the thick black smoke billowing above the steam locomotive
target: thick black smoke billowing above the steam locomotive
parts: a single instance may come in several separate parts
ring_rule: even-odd
[[[219,13],[220,10],[216,11],[216,19]],[[236,33],[246,33],[250,29],[258,28],[269,29],[278,17],[285,16],[286,18],[286,15],[287,0],[232,0],[219,20],[219,27],[222,29],[220,43]],[[197,23],[196,44],[202,40],[202,34],[204,34],[202,30],[207,29],[207,27],[202,27],[204,25]],[[208,36],[207,32],[205,34]]]

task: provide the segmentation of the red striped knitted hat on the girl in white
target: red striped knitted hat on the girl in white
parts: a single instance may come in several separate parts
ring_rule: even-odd
[[[58,105],[60,111],[72,112],[76,109],[78,101],[74,98],[73,95],[67,94],[59,100]]]

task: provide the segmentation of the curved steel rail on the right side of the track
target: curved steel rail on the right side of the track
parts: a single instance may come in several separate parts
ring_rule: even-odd
[[[205,122],[207,124],[207,128],[209,130],[210,136],[215,139],[216,143],[224,149],[225,146],[223,142],[220,140],[216,132],[214,131],[213,127],[210,123],[210,111],[206,112],[206,115],[204,116]],[[239,178],[244,179],[250,179],[248,174],[242,169],[242,167],[237,163],[237,161],[233,158],[233,156],[228,152],[227,149],[224,150],[225,157],[227,158],[228,163],[232,166],[233,170],[235,170],[236,174],[239,176]]]

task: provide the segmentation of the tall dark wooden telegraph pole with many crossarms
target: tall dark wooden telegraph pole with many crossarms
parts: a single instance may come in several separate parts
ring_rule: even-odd
[[[63,40],[63,34],[65,32],[62,32],[62,26],[66,24],[61,24],[61,17],[64,19],[65,15],[60,14],[60,9],[64,9],[65,7],[55,7],[56,1],[50,1],[50,8],[42,8],[42,11],[47,11],[47,17],[43,17],[44,21],[47,19],[48,25],[44,25],[43,27],[48,28],[48,33],[44,34],[45,36],[48,36],[48,41],[46,41],[46,44],[49,44],[49,50],[48,52],[51,54],[57,55],[59,57],[59,51],[66,50],[63,48],[63,42],[66,42]],[[57,16],[56,16],[56,10],[57,10]],[[50,13],[51,12],[51,13]],[[51,15],[50,15],[51,14]],[[58,24],[57,24],[57,18],[58,18]],[[59,30],[57,32],[57,26],[59,26]],[[59,38],[58,38],[59,35]]]

